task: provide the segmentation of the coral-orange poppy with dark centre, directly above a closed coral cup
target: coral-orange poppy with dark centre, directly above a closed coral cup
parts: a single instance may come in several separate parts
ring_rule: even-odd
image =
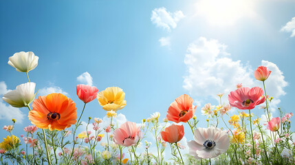
[[[193,98],[183,94],[170,104],[166,118],[172,122],[187,122],[193,118],[197,106],[193,106]]]

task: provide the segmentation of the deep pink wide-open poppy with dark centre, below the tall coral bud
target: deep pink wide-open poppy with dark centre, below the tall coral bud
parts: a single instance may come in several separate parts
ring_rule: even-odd
[[[258,104],[265,101],[263,90],[260,87],[241,87],[235,91],[231,91],[228,95],[230,106],[237,107],[238,109],[254,109]]]

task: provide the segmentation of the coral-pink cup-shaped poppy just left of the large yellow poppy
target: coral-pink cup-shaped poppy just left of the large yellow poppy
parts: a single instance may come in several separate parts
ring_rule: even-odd
[[[92,100],[96,99],[98,94],[98,89],[89,85],[77,85],[76,91],[78,98],[80,98],[80,100],[85,103],[91,102]]]

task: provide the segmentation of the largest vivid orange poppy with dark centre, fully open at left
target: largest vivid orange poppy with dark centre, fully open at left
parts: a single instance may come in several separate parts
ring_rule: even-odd
[[[76,123],[76,103],[63,94],[39,96],[32,107],[29,120],[40,129],[60,131]]]

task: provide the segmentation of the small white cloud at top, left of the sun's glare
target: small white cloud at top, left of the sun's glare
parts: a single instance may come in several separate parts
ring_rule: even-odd
[[[155,8],[151,14],[151,21],[157,25],[157,27],[163,28],[168,32],[171,32],[171,28],[177,27],[177,22],[184,18],[182,11],[167,12],[166,8]]]

